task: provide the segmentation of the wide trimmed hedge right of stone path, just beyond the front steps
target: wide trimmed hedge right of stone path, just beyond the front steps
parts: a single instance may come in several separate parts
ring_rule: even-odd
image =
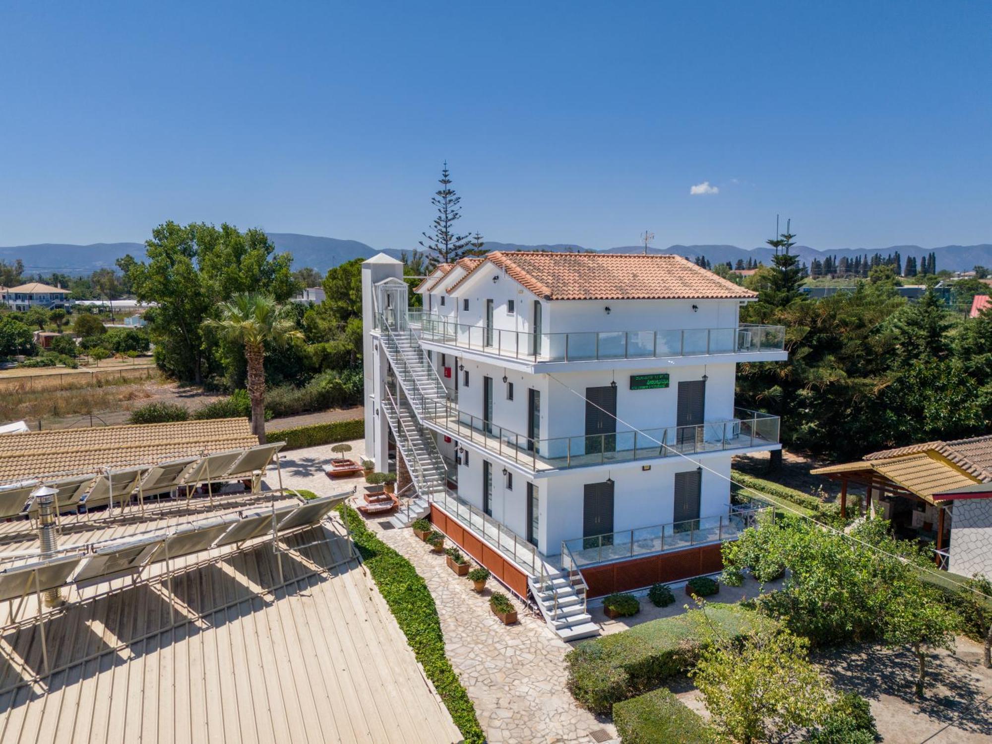
[[[731,637],[775,623],[732,604],[710,604],[706,615]],[[608,714],[614,703],[655,689],[694,665],[707,628],[702,611],[690,610],[584,641],[566,657],[568,689],[593,713]]]

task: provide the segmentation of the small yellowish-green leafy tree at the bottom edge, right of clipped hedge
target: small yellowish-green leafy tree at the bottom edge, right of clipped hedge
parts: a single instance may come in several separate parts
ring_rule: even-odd
[[[689,675],[721,740],[768,741],[773,730],[824,721],[833,693],[807,649],[788,630],[766,628],[740,641],[714,634]]]

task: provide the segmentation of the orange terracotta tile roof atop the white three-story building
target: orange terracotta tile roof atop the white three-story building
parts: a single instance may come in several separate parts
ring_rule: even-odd
[[[758,295],[682,256],[494,251],[486,263],[545,300],[750,300]],[[473,271],[482,271],[481,262]],[[452,292],[467,279],[448,288]]]

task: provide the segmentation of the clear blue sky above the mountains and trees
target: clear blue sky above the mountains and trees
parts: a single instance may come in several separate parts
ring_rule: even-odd
[[[992,242],[990,51],[953,0],[4,3],[0,245],[409,248],[444,159],[505,242]]]

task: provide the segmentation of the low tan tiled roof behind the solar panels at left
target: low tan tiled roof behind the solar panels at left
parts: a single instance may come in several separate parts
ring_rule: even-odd
[[[0,436],[0,483],[151,465],[254,446],[247,419],[65,429]]]

